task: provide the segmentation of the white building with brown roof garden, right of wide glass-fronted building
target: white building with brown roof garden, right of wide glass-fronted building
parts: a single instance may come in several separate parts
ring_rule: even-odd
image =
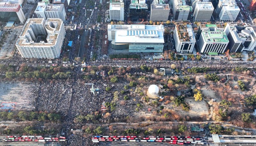
[[[192,53],[196,44],[196,38],[191,25],[176,25],[173,39],[178,53]]]

